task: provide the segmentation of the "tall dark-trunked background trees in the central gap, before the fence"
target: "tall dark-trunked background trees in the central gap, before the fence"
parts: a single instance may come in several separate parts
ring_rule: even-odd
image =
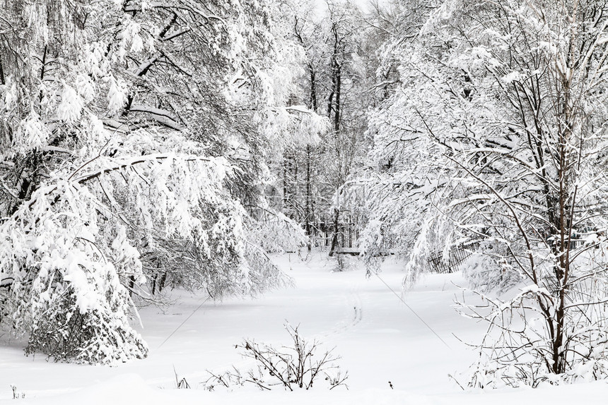
[[[366,26],[356,4],[324,1],[313,9],[298,8],[293,37],[305,50],[305,74],[295,96],[327,117],[317,143],[303,142],[281,159],[283,213],[305,224],[320,217],[334,224],[334,243],[340,219],[339,195],[346,179],[361,166],[365,155],[365,111],[368,106]],[[333,248],[332,248],[333,250]]]

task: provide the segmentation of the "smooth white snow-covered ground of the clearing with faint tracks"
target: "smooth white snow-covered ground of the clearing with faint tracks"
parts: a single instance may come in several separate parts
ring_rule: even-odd
[[[399,296],[402,272],[386,263],[380,277],[365,277],[356,260],[334,272],[335,260],[316,252],[308,260],[281,255],[276,261],[295,286],[256,299],[205,302],[178,294],[178,303],[140,311],[148,358],[117,367],[72,365],[23,356],[19,341],[0,336],[0,404],[605,404],[604,382],[540,389],[462,392],[448,377],[474,361],[459,339],[475,341],[484,325],[454,308],[460,274],[433,274]],[[386,285],[386,284],[387,285]],[[465,297],[466,298],[466,297]],[[474,298],[468,297],[472,300]],[[203,304],[201,306],[201,304]],[[198,308],[198,309],[197,309]],[[411,309],[424,320],[423,323]],[[281,346],[289,343],[284,323],[300,325],[303,337],[335,347],[349,389],[271,392],[236,388],[208,392],[207,370],[247,368],[235,344],[243,338]],[[183,325],[182,325],[182,322]],[[182,325],[180,327],[180,325]],[[432,329],[430,329],[430,328]],[[433,332],[434,331],[434,332]],[[175,332],[175,333],[174,333]],[[173,335],[172,335],[173,333]],[[438,335],[436,336],[435,333]],[[0,332],[1,334],[1,332]],[[176,374],[191,389],[176,389]],[[389,385],[392,382],[393,389]],[[13,400],[11,385],[25,394]]]

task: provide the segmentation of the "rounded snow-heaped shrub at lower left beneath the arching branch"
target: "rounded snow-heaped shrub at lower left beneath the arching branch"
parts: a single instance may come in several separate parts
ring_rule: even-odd
[[[86,363],[146,356],[128,322],[131,298],[108,258],[110,246],[95,240],[94,204],[86,188],[58,183],[40,188],[0,224],[0,274],[12,280],[4,308],[16,330],[28,334],[26,353]],[[113,247],[131,248],[121,242]],[[141,278],[141,262],[133,263],[129,274]]]

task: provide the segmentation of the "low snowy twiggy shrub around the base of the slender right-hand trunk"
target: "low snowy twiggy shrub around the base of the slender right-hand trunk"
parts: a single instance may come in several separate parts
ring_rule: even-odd
[[[553,350],[556,324],[547,321],[560,316],[551,291],[522,287],[508,300],[484,296],[483,306],[464,310],[465,316],[489,325],[479,344],[479,360],[464,374],[466,384],[475,388],[539,387],[608,378],[608,308],[586,302],[608,286],[606,280],[581,284],[563,314],[566,319],[558,357]],[[555,361],[563,362],[559,365],[563,373],[553,372]]]

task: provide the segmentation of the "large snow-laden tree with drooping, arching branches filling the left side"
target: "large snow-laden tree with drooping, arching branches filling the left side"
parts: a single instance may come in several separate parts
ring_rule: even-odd
[[[128,317],[144,283],[218,296],[281,282],[245,207],[269,145],[307,125],[286,108],[301,52],[274,23],[285,4],[3,8],[0,305],[27,351],[141,358]]]

